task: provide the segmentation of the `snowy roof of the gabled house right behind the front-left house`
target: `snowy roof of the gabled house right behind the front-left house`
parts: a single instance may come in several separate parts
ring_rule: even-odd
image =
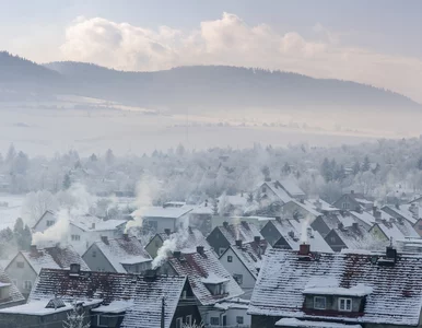
[[[116,272],[127,272],[122,265],[134,265],[152,261],[151,256],[136,237],[116,239],[102,238],[94,243]],[[92,246],[91,246],[92,247]]]

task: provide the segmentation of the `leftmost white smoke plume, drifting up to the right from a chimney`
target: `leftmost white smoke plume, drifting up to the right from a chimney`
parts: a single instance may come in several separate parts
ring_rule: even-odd
[[[75,184],[67,191],[70,201],[61,203],[55,216],[57,222],[44,232],[33,234],[33,244],[38,247],[47,247],[55,244],[69,244],[69,224],[72,218],[84,215],[90,212],[95,197],[86,191],[81,184]]]

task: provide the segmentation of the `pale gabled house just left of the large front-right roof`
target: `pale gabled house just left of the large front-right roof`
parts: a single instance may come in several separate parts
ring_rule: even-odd
[[[231,245],[220,256],[220,262],[245,292],[244,298],[250,298],[265,254],[269,248],[272,248],[271,245],[256,236],[251,243],[236,242],[236,245]]]

